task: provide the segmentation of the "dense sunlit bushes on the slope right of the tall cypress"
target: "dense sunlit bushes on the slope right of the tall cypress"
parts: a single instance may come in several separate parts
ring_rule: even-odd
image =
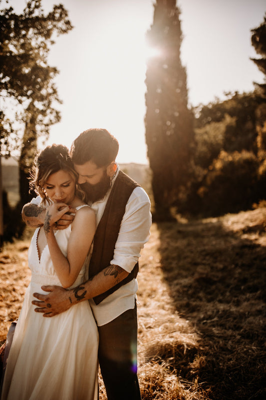
[[[209,215],[266,198],[266,108],[257,92],[227,94],[195,110],[195,174],[183,211]]]

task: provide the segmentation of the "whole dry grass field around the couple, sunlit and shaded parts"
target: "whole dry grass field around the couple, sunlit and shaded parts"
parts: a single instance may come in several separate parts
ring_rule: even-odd
[[[30,278],[30,233],[0,253],[1,342]],[[265,266],[266,208],[152,225],[138,276],[143,400],[266,398]]]

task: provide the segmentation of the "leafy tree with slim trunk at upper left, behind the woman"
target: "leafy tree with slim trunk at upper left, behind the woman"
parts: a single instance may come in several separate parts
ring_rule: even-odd
[[[58,70],[48,65],[47,55],[54,36],[67,33],[72,25],[62,4],[44,14],[41,0],[30,0],[20,14],[12,7],[1,8],[0,26],[0,155],[8,156],[14,147],[21,148],[23,202],[28,192],[25,174],[37,150],[37,137],[47,137],[49,126],[60,119],[54,84]],[[12,112],[8,112],[10,108]]]

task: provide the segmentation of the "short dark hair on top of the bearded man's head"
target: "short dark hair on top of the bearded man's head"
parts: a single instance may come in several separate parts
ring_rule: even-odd
[[[106,129],[87,129],[73,141],[70,155],[74,164],[82,165],[87,161],[98,167],[115,161],[119,144],[117,139]]]

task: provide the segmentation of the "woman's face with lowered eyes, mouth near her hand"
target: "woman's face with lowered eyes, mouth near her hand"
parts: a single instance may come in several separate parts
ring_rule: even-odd
[[[49,199],[65,204],[71,204],[73,201],[75,187],[74,177],[64,169],[51,173],[44,183],[44,189]]]

